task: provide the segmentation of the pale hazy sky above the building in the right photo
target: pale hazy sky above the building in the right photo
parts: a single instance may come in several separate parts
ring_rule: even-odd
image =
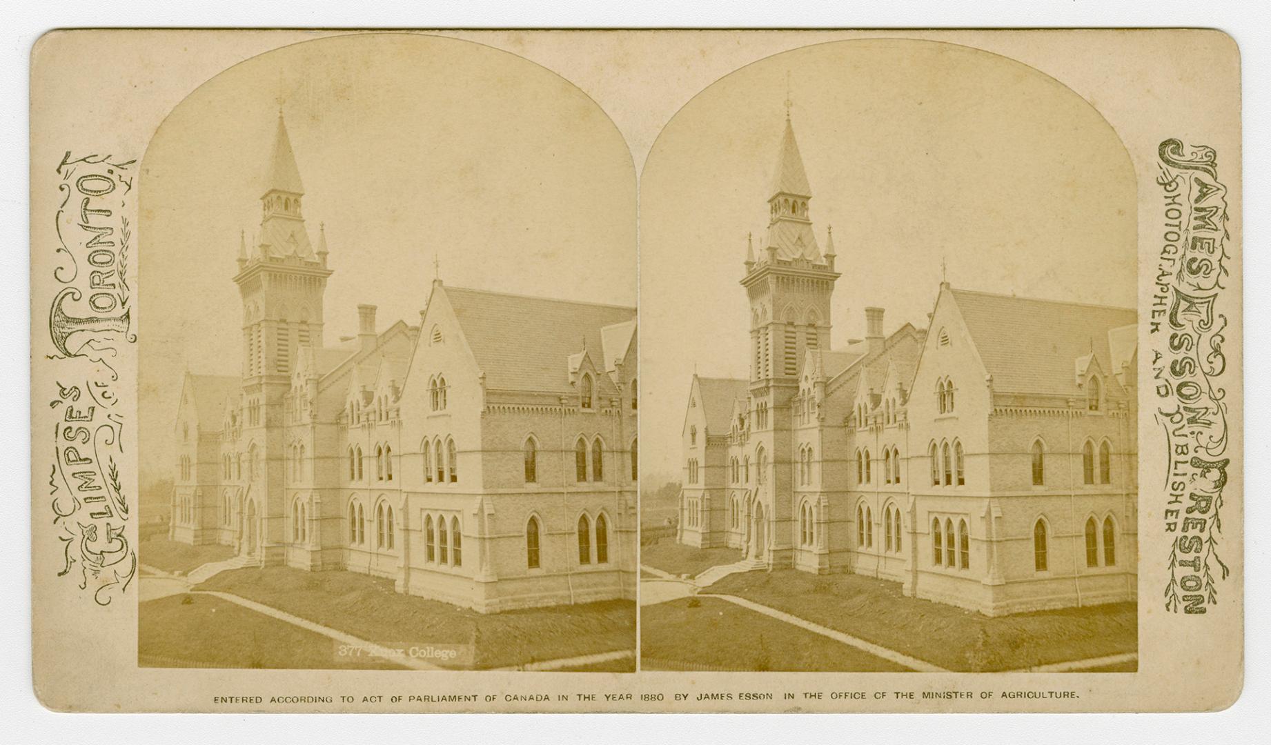
[[[1136,191],[1116,133],[1055,80],[988,52],[833,42],[714,83],[666,126],[641,174],[641,459],[677,478],[694,369],[746,378],[746,234],[792,117],[819,243],[834,225],[834,347],[925,327],[941,263],[955,287],[1135,305]]]

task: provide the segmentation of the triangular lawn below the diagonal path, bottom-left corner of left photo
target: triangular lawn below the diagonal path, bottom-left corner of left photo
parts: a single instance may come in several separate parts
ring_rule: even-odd
[[[207,595],[169,595],[139,605],[142,667],[403,670],[379,657],[341,657],[336,641]]]

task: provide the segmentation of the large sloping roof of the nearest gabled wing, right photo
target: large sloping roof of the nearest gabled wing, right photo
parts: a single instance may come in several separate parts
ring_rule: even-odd
[[[1094,353],[1116,372],[1108,334],[1138,323],[1132,308],[949,290],[994,390],[1080,395],[1074,361]],[[1125,351],[1118,351],[1125,356]]]

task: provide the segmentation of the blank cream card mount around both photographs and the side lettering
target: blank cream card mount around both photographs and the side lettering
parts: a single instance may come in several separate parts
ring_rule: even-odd
[[[67,147],[117,151],[140,156],[145,144],[161,118],[193,88],[229,65],[289,41],[313,38],[305,32],[98,32],[102,44],[113,44],[118,53],[112,65],[85,62],[83,46],[89,41],[70,33],[44,37],[33,53],[32,70],[32,244],[33,277],[33,369],[36,400],[42,398],[38,386],[47,380],[51,367],[41,359],[46,345],[39,336],[39,315],[46,313],[48,286],[42,277],[48,271],[50,254],[38,250],[48,244],[47,221],[52,195],[48,188],[51,167]],[[1232,41],[1216,32],[636,32],[613,34],[527,32],[480,33],[459,36],[510,48],[539,64],[568,74],[610,113],[632,145],[637,165],[643,161],[648,144],[657,130],[693,94],[726,72],[764,56],[816,41],[859,36],[905,36],[939,38],[956,43],[972,43],[980,48],[1010,56],[1021,62],[1056,76],[1073,88],[1116,128],[1126,144],[1139,178],[1140,262],[1150,262],[1157,252],[1154,234],[1158,221],[1158,193],[1150,182],[1154,173],[1157,144],[1178,136],[1201,141],[1223,154],[1224,181],[1232,186],[1232,267],[1229,297],[1240,296],[1240,128],[1238,51]],[[614,41],[616,39],[616,41]],[[122,51],[121,51],[122,50]],[[177,50],[182,50],[180,53]],[[639,81],[633,83],[638,72]],[[144,93],[139,95],[139,89]],[[71,116],[74,112],[75,116]],[[1140,276],[1152,263],[1140,264]],[[142,290],[144,291],[144,290]],[[1140,286],[1140,308],[1148,292]],[[1240,329],[1230,327],[1232,339]],[[1229,372],[1238,379],[1240,356],[1238,343],[1228,347]],[[135,371],[125,367],[125,374]],[[1235,380],[1228,389],[1229,400],[1240,402],[1243,390]],[[1229,420],[1233,440],[1230,453],[1240,458],[1243,442],[1242,411],[1233,411]],[[33,409],[36,425],[43,412]],[[1143,430],[1143,461],[1152,463],[1153,448],[1159,441]],[[135,464],[132,464],[135,472]],[[417,678],[400,674],[350,673],[192,673],[136,670],[133,646],[136,608],[127,604],[99,609],[78,595],[67,582],[52,575],[57,566],[57,547],[41,519],[46,496],[39,487],[33,464],[33,606],[34,676],[37,693],[46,706],[60,709],[215,709],[211,695],[226,690],[234,694],[294,693],[411,693],[425,688]],[[1148,483],[1153,473],[1140,474]],[[1228,484],[1228,539],[1233,556],[1243,552],[1239,538],[1242,520],[1240,472],[1233,472]],[[1164,542],[1159,535],[1159,495],[1145,491],[1140,500],[1140,586],[1143,612],[1140,628],[1140,671],[1132,675],[519,675],[519,674],[438,674],[428,678],[428,692],[473,689],[489,692],[543,692],[563,688],[569,692],[604,693],[615,690],[656,690],[670,698],[672,692],[691,692],[705,685],[727,690],[820,690],[868,688],[874,690],[1003,690],[1008,688],[1075,689],[1082,698],[1068,703],[996,699],[990,707],[977,702],[927,702],[897,706],[895,699],[864,702],[853,711],[1177,711],[1214,709],[1229,704],[1239,693],[1242,671],[1242,564],[1233,563],[1233,576],[1224,584],[1224,603],[1204,618],[1166,615],[1152,599],[1163,586]],[[1155,561],[1152,561],[1155,557]],[[98,675],[84,670],[108,671],[108,685]],[[636,683],[633,683],[633,680]],[[848,708],[827,698],[821,702],[799,702],[805,711],[839,711]],[[765,704],[737,704],[746,711],[778,711],[785,708],[780,699]],[[384,704],[353,704],[356,711],[390,711]],[[479,709],[500,711],[627,711],[662,708],[670,704],[578,704],[572,702],[505,703],[498,701]],[[684,707],[691,711],[699,707]],[[391,709],[405,711],[405,709]],[[425,711],[425,709],[416,709]],[[435,709],[433,709],[435,711]]]

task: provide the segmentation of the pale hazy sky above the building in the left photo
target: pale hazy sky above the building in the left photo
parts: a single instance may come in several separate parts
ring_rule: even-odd
[[[170,475],[184,369],[239,374],[235,257],[250,245],[278,104],[316,245],[334,270],[325,341],[418,323],[449,285],[636,304],[636,174],[622,135],[553,72],[425,36],[305,42],[236,65],[164,121],[142,159],[142,483]],[[564,364],[564,361],[562,361]],[[158,469],[158,470],[155,470]]]

